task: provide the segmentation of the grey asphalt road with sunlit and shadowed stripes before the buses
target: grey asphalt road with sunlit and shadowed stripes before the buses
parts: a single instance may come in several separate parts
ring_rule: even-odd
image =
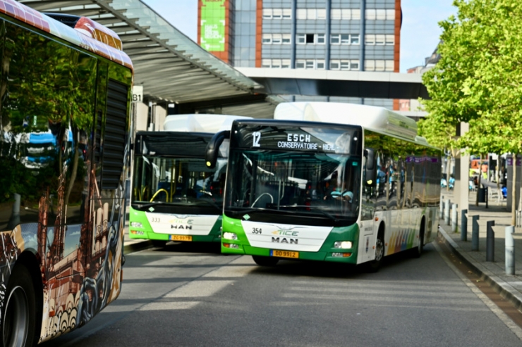
[[[459,274],[435,244],[374,274],[172,244],[128,255],[118,300],[42,346],[522,346]]]

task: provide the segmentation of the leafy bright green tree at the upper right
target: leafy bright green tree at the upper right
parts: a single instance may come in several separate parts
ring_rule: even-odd
[[[454,6],[456,17],[439,23],[441,59],[423,75],[432,98],[425,108],[441,127],[469,122],[459,148],[522,153],[522,2],[455,0]]]

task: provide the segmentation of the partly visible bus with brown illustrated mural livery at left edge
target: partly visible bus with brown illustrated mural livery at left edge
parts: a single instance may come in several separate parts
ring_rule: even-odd
[[[89,18],[0,0],[0,29],[0,346],[33,346],[121,291],[133,65]]]

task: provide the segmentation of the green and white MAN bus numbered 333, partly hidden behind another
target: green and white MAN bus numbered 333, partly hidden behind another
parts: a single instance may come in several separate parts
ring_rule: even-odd
[[[228,140],[205,165],[216,132],[230,130],[235,115],[169,115],[164,131],[137,132],[129,211],[131,239],[219,241]]]

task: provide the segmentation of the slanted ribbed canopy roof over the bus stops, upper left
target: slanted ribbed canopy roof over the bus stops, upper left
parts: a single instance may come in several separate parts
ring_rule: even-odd
[[[250,103],[262,89],[241,72],[202,49],[140,0],[19,0],[40,12],[95,20],[119,35],[133,61],[135,85],[150,101],[207,102],[207,106]],[[264,93],[255,97],[265,102]],[[245,98],[245,102],[243,102]],[[230,100],[229,100],[230,99]],[[270,111],[277,101],[270,100]],[[266,106],[266,105],[265,105]]]

